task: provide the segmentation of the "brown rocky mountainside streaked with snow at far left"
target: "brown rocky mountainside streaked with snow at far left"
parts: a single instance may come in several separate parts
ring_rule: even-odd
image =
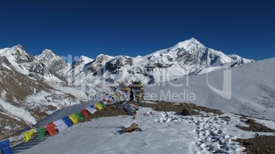
[[[54,85],[66,83],[57,71],[20,45],[0,50],[0,137],[35,124],[64,106],[80,103],[73,95],[54,89]]]

